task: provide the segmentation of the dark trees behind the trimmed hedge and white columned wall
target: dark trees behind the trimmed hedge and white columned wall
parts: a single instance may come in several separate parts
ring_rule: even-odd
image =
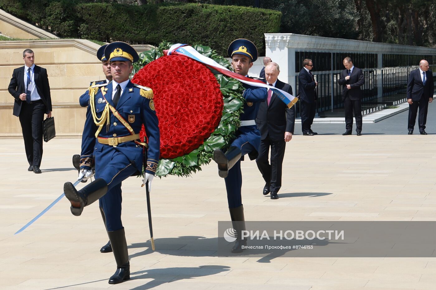
[[[198,0],[253,6],[254,0]],[[282,12],[280,33],[436,46],[436,3],[429,0],[268,0]]]

